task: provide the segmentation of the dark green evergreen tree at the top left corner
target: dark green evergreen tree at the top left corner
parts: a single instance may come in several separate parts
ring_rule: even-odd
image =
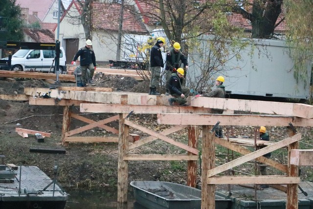
[[[21,8],[15,6],[15,0],[1,0],[0,17],[8,31],[7,39],[9,41],[21,41],[23,38],[22,20],[20,19]]]

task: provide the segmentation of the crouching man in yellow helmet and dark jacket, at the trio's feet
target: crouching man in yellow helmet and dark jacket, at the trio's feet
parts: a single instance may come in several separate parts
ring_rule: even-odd
[[[174,105],[177,102],[179,105],[184,105],[187,102],[187,97],[190,93],[190,89],[187,87],[182,88],[180,78],[184,76],[184,70],[182,68],[177,69],[177,72],[173,72],[169,81],[169,91],[174,98],[169,98],[170,105]]]

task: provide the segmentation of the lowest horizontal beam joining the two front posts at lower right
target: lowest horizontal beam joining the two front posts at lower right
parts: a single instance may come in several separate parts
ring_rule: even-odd
[[[209,177],[207,183],[210,185],[237,185],[237,184],[256,184],[256,185],[280,185],[298,184],[300,177],[287,176],[216,176]]]

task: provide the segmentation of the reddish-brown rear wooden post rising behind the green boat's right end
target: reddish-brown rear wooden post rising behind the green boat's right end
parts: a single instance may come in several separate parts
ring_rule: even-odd
[[[198,149],[198,136],[199,127],[189,126],[188,127],[188,145],[192,148]],[[188,155],[193,155],[193,153],[188,152]],[[187,186],[196,187],[197,186],[197,161],[188,161],[187,168]]]

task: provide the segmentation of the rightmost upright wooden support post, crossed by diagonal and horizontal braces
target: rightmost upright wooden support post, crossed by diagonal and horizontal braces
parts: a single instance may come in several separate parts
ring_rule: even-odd
[[[289,136],[292,137],[296,133],[289,127]],[[299,141],[295,141],[288,146],[288,172],[287,176],[297,177],[299,174],[299,166],[290,163],[291,150],[299,149]],[[286,209],[298,209],[298,184],[287,185],[287,206]]]

